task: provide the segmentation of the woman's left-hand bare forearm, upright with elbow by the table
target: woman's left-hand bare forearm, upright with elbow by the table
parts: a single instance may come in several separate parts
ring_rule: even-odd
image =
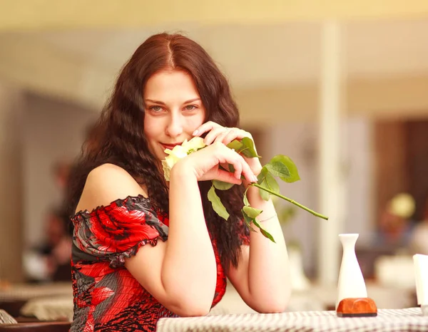
[[[158,300],[173,304],[180,316],[202,316],[213,303],[217,267],[198,180],[189,168],[181,164],[173,167],[169,198],[170,228],[163,264],[158,269],[158,286],[162,286]]]

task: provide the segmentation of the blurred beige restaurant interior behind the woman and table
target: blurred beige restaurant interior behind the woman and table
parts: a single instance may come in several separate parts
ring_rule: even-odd
[[[0,286],[69,281],[68,167],[121,66],[168,31],[218,63],[263,162],[297,164],[282,194],[330,217],[277,202],[295,308],[335,288],[340,233],[360,234],[375,301],[414,304],[412,254],[428,254],[427,1],[0,4]]]

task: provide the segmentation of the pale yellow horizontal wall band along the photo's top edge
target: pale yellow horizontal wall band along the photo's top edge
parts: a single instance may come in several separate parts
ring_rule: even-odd
[[[0,30],[422,17],[426,0],[2,0]]]

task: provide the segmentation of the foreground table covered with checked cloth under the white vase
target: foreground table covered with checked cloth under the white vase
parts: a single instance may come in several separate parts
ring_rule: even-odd
[[[428,316],[421,308],[379,309],[377,317],[340,318],[335,311],[246,313],[189,318],[161,318],[157,332],[400,332],[428,331]]]

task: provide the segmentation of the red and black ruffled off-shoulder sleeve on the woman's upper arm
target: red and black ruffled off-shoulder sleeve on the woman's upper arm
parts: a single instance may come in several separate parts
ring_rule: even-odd
[[[146,244],[156,246],[158,239],[168,239],[166,217],[156,212],[150,199],[128,196],[116,199],[106,206],[99,206],[91,212],[76,213],[73,243],[78,251],[97,261],[109,261],[112,268],[123,266],[125,259],[135,256]],[[73,257],[79,253],[73,252]]]

